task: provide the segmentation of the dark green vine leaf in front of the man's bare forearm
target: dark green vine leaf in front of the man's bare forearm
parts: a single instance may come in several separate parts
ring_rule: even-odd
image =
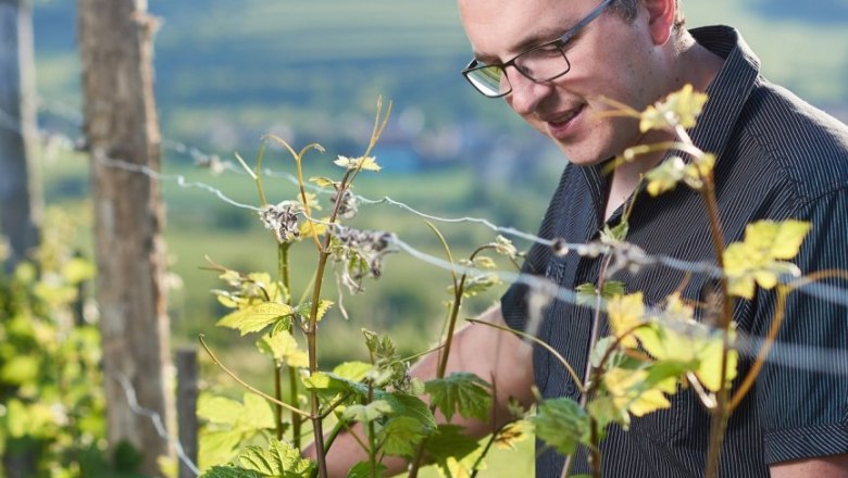
[[[448,422],[456,412],[465,418],[488,419],[491,408],[490,386],[476,375],[453,373],[445,378],[429,380],[424,387],[429,393],[431,403],[445,414]]]

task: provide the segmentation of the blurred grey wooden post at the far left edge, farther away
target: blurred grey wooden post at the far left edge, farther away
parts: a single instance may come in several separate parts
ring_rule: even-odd
[[[33,14],[27,0],[0,0],[0,231],[14,266],[38,244],[41,193],[36,131]]]

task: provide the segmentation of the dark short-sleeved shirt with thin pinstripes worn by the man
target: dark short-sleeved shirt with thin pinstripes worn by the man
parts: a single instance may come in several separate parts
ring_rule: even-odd
[[[707,91],[709,101],[698,125],[690,130],[699,148],[718,155],[714,175],[725,241],[740,240],[746,224],[753,221],[808,221],[812,229],[795,263],[805,273],[848,269],[848,127],[764,79],[759,60],[735,29],[714,26],[691,33],[725,59]],[[565,167],[540,237],[570,243],[598,239],[604,227],[602,167]],[[620,218],[621,211],[609,224]],[[683,186],[657,198],[640,193],[627,241],[651,255],[715,262],[703,203]],[[524,264],[525,273],[544,275],[572,290],[596,284],[599,269],[598,259],[557,256],[539,244]],[[612,279],[623,281],[627,292],[641,290],[649,304],[662,303],[682,284],[684,298],[702,301],[714,280],[697,273],[687,279],[681,271],[661,265],[624,271]],[[789,295],[778,343],[729,419],[721,476],[766,477],[770,464],[848,452],[848,294],[834,286],[846,290],[848,281],[825,281],[822,288]],[[501,299],[503,316],[513,328],[526,326],[526,295],[527,286],[515,284]],[[738,330],[750,338],[766,334],[774,312],[773,291],[758,289],[753,300],[734,303]],[[588,307],[558,300],[545,310],[538,329],[539,338],[576,370],[586,366],[593,314]],[[739,378],[750,368],[752,352],[756,345],[740,357]],[[533,366],[544,398],[578,400],[575,383],[543,348],[535,348]],[[689,390],[670,400],[670,410],[634,418],[628,431],[609,427],[601,444],[604,476],[703,474],[709,414]],[[537,476],[558,477],[564,457],[543,450],[539,446]],[[588,473],[585,449],[577,452],[572,473]]]

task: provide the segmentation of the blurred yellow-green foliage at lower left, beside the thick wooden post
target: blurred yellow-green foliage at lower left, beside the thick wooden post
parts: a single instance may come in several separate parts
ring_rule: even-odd
[[[100,334],[83,293],[95,271],[72,249],[78,226],[48,210],[32,260],[0,272],[0,454],[34,477],[132,476],[137,451],[104,453]]]

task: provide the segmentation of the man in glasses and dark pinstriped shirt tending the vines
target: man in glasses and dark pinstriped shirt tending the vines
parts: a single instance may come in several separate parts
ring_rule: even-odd
[[[761,218],[809,221],[812,230],[798,266],[805,273],[848,269],[848,128],[763,79],[757,58],[735,30],[685,30],[675,0],[459,0],[459,7],[474,50],[466,78],[485,96],[503,98],[569,159],[539,236],[578,243],[597,239],[606,224],[620,221],[624,202],[639,192],[641,175],[664,158],[640,156],[604,174],[608,160],[626,148],[671,139],[639,133],[633,118],[599,114],[610,110],[604,98],[641,110],[690,84],[710,97],[689,133],[699,148],[718,155],[725,241],[739,240],[745,225]],[[649,254],[715,261],[703,204],[687,188],[658,198],[640,192],[629,229],[627,240]],[[531,250],[524,265],[525,273],[568,289],[596,282],[599,269],[599,260],[559,256],[543,246]],[[661,266],[615,279],[628,292],[644,291],[652,303],[684,279],[683,297],[703,301],[711,280]],[[485,318],[525,328],[527,297],[526,286],[514,285]],[[848,360],[844,354],[830,364],[815,358],[816,351],[845,352],[848,311],[833,294],[798,291],[785,312],[777,340],[796,353],[769,362],[732,416],[721,476],[848,477]],[[761,337],[773,313],[773,294],[758,291],[752,301],[736,303],[734,320],[741,335]],[[544,315],[539,338],[584,369],[593,311],[556,301]],[[744,355],[740,376],[750,363],[750,354]],[[830,369],[822,369],[825,365]],[[532,403],[534,385],[545,399],[579,397],[551,354],[490,327],[461,330],[449,368],[494,382],[496,422],[507,419],[509,398]],[[435,357],[417,364],[414,374],[434,376]],[[629,431],[609,428],[601,445],[604,476],[703,473],[709,414],[691,391],[671,400],[671,410],[635,418]],[[486,424],[467,425],[473,433],[488,431]],[[333,466],[347,469],[344,454],[331,453]],[[560,476],[563,463],[563,456],[545,452],[537,476]],[[403,464],[391,466],[402,470]],[[572,473],[587,470],[583,450]]]

